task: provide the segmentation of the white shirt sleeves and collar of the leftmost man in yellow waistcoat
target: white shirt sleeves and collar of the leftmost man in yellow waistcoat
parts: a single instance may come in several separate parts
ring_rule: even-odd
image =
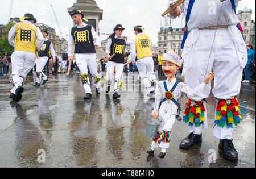
[[[31,22],[28,20],[23,20],[23,23],[31,24]],[[8,41],[9,41],[10,45],[13,47],[15,45],[14,39],[16,36],[15,28],[16,28],[16,25],[11,27],[9,34],[8,34]],[[43,47],[43,44],[44,44],[43,34],[42,34],[40,28],[37,27],[37,31],[36,31],[36,49],[37,49],[37,51],[40,51],[40,49]]]

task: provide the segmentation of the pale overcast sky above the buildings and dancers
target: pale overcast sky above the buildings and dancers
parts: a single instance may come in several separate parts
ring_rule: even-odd
[[[64,38],[66,38],[69,28],[72,27],[72,19],[68,14],[67,8],[71,7],[75,2],[76,0],[13,0],[13,9],[10,10],[11,0],[0,0],[0,24],[7,24],[10,12],[11,17],[20,17],[25,13],[31,13],[38,22],[55,28],[56,34],[60,35],[50,6],[52,4],[61,31]],[[99,24],[100,34],[110,34],[116,24],[122,24],[126,28],[123,31],[123,36],[128,36],[130,39],[134,37],[133,27],[141,24],[153,43],[157,44],[159,28],[164,26],[164,18],[161,17],[161,14],[167,9],[168,0],[96,0],[96,3],[98,7],[103,9],[103,19]],[[245,6],[253,10],[253,19],[255,20],[255,1],[240,1],[237,12]],[[180,16],[180,19],[175,19],[172,22],[172,27],[183,27],[185,18],[182,19],[182,25],[181,19],[182,16]],[[167,27],[170,27],[170,18],[168,18]]]

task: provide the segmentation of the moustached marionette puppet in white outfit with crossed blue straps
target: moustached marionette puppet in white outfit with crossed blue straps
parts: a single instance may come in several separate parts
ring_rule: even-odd
[[[189,88],[183,82],[176,82],[175,74],[181,66],[181,60],[174,51],[167,52],[163,55],[162,69],[167,78],[165,81],[159,81],[156,85],[155,107],[152,111],[152,118],[157,119],[159,116],[160,126],[158,134],[153,139],[151,150],[148,154],[154,154],[154,150],[158,147],[162,148],[159,158],[164,158],[166,149],[169,148],[170,132],[174,125],[176,115],[180,109],[178,99],[182,92],[191,96],[196,96],[201,90],[214,78],[214,73],[209,73],[203,82],[195,89]]]

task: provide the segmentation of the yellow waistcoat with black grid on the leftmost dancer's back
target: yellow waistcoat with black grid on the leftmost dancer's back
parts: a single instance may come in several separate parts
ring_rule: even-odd
[[[15,28],[14,51],[35,53],[37,29],[33,24],[17,23]]]

